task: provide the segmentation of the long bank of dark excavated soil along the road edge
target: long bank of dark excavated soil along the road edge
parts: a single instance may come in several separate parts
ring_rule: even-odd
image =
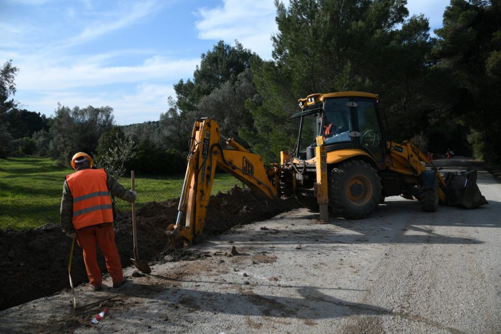
[[[141,259],[150,261],[194,260],[203,254],[189,249],[167,249],[164,231],[175,222],[179,199],[150,202],[136,212]],[[221,234],[232,226],[269,219],[281,212],[299,207],[296,199],[264,200],[248,189],[232,188],[228,193],[211,196],[204,225],[204,237]],[[115,223],[115,241],[123,266],[129,266],[133,255],[132,218],[119,212]],[[68,261],[71,239],[58,224],[47,224],[35,230],[0,230],[0,310],[69,288]],[[98,251],[101,270],[106,272]],[[153,269],[154,270],[154,269]],[[76,246],[71,267],[73,283],[88,282],[81,248]]]

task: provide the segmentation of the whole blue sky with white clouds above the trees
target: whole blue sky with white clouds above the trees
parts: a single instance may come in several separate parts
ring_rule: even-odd
[[[286,1],[287,3],[287,1]],[[448,0],[408,0],[442,25]],[[219,40],[271,59],[273,0],[0,0],[0,64],[20,71],[15,99],[48,116],[110,106],[119,125],[156,121],[172,85]]]

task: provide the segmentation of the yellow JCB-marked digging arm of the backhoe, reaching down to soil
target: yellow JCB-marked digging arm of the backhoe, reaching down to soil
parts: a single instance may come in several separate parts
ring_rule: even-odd
[[[219,143],[221,139],[231,149],[223,149]],[[277,166],[266,169],[260,156],[233,139],[224,138],[214,120],[197,120],[193,126],[176,222],[169,225],[165,232],[171,239],[172,247],[180,241],[189,244],[194,235],[202,234],[216,166],[243,182],[256,196],[277,198]]]

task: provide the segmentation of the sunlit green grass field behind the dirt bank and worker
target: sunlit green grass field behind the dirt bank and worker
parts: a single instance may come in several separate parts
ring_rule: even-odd
[[[51,158],[0,159],[0,229],[59,224],[64,177],[72,172],[72,169],[56,167]],[[149,176],[136,173],[136,206],[179,197],[183,179],[184,174]],[[130,175],[124,175],[119,182],[130,189]],[[228,174],[216,174],[212,194],[225,192],[235,184],[241,186],[241,182]],[[117,208],[130,210],[130,203],[118,199]]]

